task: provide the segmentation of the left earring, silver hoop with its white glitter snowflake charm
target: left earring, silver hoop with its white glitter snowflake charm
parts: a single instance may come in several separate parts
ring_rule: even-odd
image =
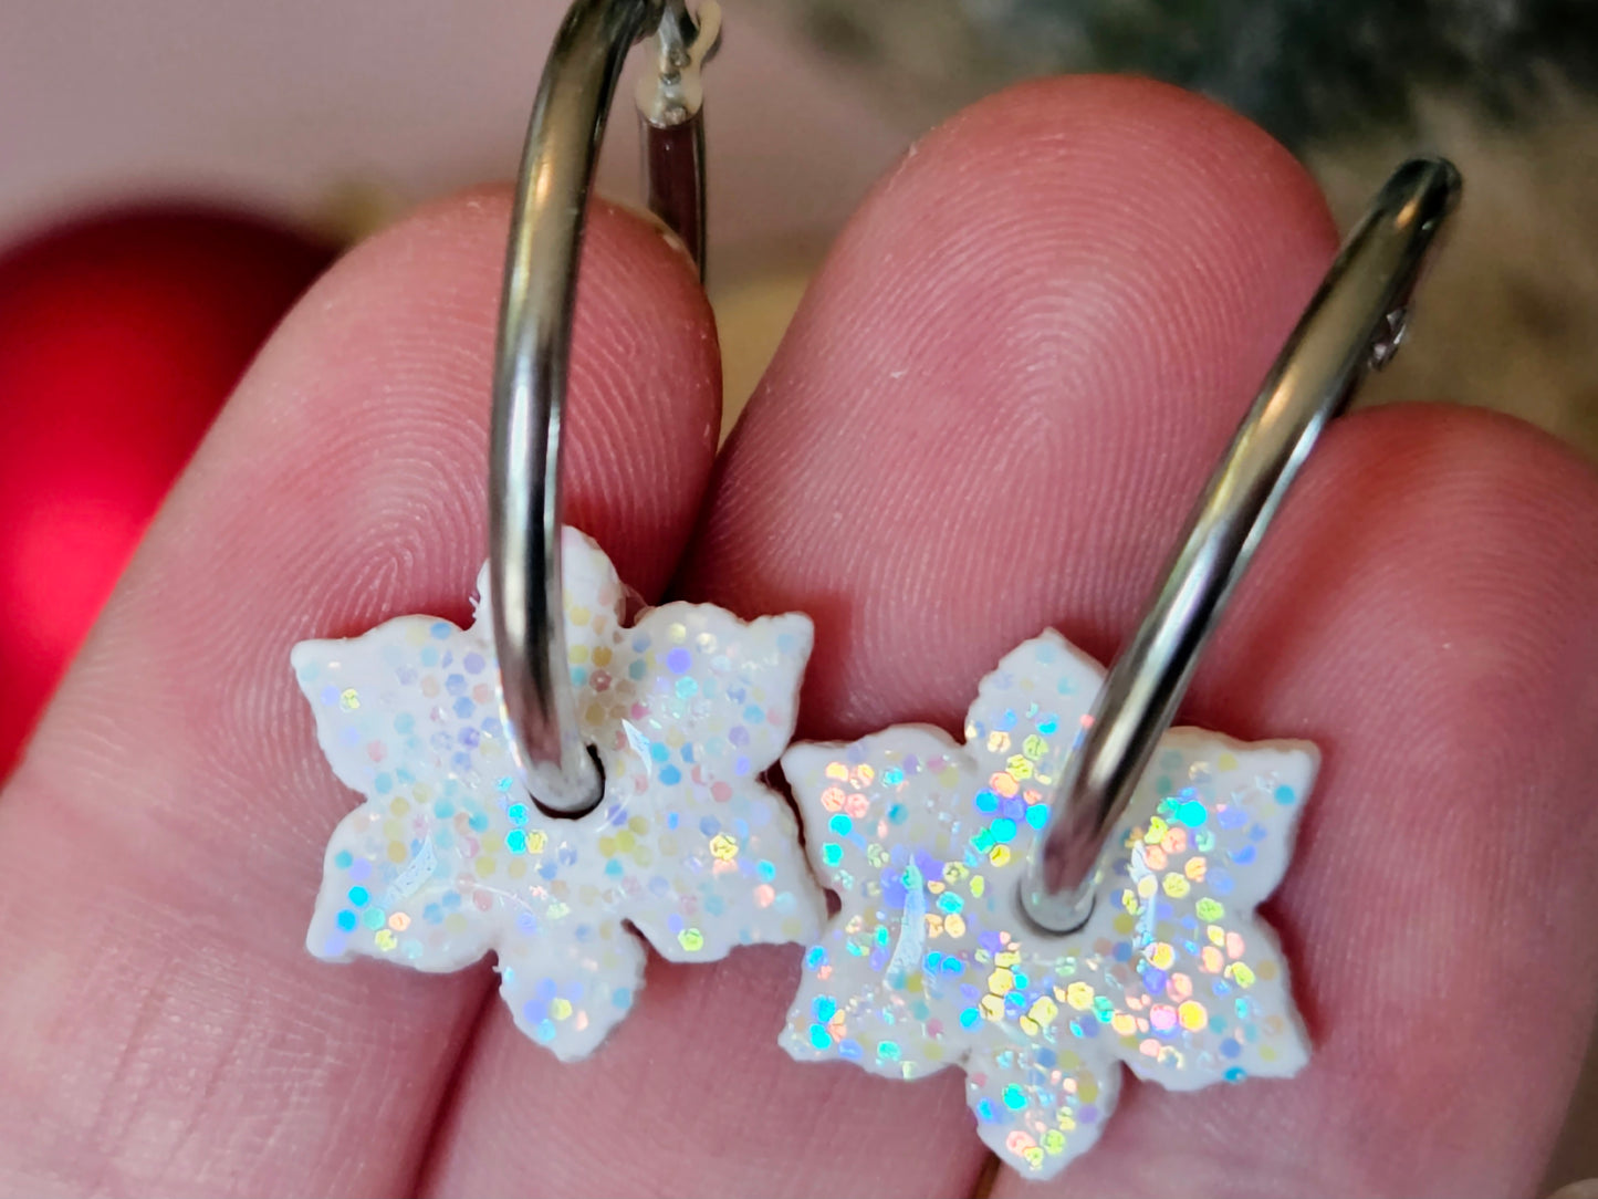
[[[647,22],[650,201],[703,261],[698,69],[718,10],[585,0],[545,70],[516,197],[476,620],[404,617],[292,654],[328,761],[364,796],[328,846],[310,951],[454,970],[492,950],[518,1026],[562,1058],[633,1002],[644,948],[623,921],[671,961],[710,961],[813,940],[825,916],[793,815],[759,782],[793,734],[809,619],[674,603],[628,627],[609,558],[556,521],[585,200]]]

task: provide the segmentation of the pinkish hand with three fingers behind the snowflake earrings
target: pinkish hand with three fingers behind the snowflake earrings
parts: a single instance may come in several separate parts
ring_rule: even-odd
[[[777,1047],[799,948],[654,961],[561,1065],[302,946],[328,771],[289,647],[463,617],[502,192],[356,249],[262,352],[0,798],[0,1193],[968,1194],[956,1071]],[[647,596],[817,623],[801,737],[959,721],[1045,625],[1107,659],[1334,249],[1262,133],[1147,83],[994,98],[863,203],[713,470],[710,309],[596,208],[569,520]],[[1424,318],[1422,318],[1424,320]],[[1421,336],[1417,333],[1417,336]],[[1529,1193],[1598,993],[1598,480],[1440,404],[1338,422],[1187,716],[1325,755],[1266,908],[1296,1079],[1130,1084],[997,1194]]]

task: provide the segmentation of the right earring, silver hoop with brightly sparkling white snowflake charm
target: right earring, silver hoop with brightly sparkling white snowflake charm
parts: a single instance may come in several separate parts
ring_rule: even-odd
[[[956,743],[904,726],[794,745],[812,865],[842,900],[783,1044],[890,1078],[965,1071],[983,1140],[1048,1177],[1098,1138],[1120,1066],[1186,1090],[1309,1057],[1254,908],[1317,753],[1168,731],[1197,654],[1320,428],[1403,334],[1459,176],[1411,161],[1333,265],[1104,678],[1058,633],[983,679]]]

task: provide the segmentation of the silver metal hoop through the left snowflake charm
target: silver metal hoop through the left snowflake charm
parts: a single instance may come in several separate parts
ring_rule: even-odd
[[[529,791],[556,812],[582,812],[599,798],[599,771],[577,724],[561,596],[561,432],[577,265],[623,62],[666,22],[679,37],[694,29],[682,0],[575,0],[539,83],[511,209],[489,448],[489,607],[511,753]],[[702,261],[703,155],[663,158],[658,173],[678,205],[660,216],[671,224],[684,206],[698,214],[692,245]],[[652,198],[655,190],[650,174]]]

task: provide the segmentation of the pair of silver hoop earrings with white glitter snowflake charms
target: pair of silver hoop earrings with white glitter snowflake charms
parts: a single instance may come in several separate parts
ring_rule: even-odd
[[[492,950],[516,1025],[572,1060],[642,982],[623,922],[679,962],[797,942],[793,1057],[904,1079],[960,1066],[983,1140],[1047,1177],[1096,1140],[1117,1063],[1194,1089],[1309,1057],[1254,908],[1286,868],[1317,751],[1170,721],[1320,430],[1397,349],[1459,176],[1416,160],[1377,195],[1107,675],[1045,630],[981,681],[964,740],[904,726],[789,748],[807,617],[670,603],[628,623],[609,558],[556,516],[578,245],[622,61],[654,35],[649,203],[703,269],[700,69],[718,27],[711,0],[697,16],[577,0],[561,27],[510,235],[476,619],[404,617],[292,654],[328,761],[364,796],[328,846],[307,943],[419,970]],[[804,847],[762,782],[778,759]]]

